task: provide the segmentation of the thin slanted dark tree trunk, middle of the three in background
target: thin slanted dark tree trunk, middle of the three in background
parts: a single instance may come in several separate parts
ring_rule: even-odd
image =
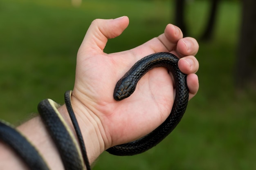
[[[206,24],[204,33],[202,34],[202,40],[210,40],[212,38],[213,35],[213,29],[214,29],[214,24],[216,21],[216,15],[218,12],[218,4],[219,4],[219,0],[211,0],[211,10],[209,13],[209,19],[208,22]]]

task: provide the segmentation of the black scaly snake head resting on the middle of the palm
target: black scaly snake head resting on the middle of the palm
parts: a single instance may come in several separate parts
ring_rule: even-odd
[[[114,99],[120,101],[135,91],[136,84],[132,78],[120,79],[114,91]]]

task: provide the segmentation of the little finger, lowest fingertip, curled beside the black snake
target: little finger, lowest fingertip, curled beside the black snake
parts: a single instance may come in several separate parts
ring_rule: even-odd
[[[199,89],[199,80],[196,74],[189,74],[186,77],[187,85],[189,88],[189,100],[193,98]]]

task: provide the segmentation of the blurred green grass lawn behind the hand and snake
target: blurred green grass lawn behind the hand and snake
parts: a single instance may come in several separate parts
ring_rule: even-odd
[[[186,18],[198,37],[208,1],[190,1]],[[95,18],[127,15],[130,25],[110,40],[106,53],[133,48],[163,33],[173,22],[167,0],[0,1],[0,119],[19,124],[45,98],[63,103],[73,88],[76,52]],[[141,155],[103,153],[94,170],[256,169],[256,93],[237,91],[234,63],[240,26],[239,1],[222,1],[215,36],[199,42],[200,90],[181,123],[162,143]]]

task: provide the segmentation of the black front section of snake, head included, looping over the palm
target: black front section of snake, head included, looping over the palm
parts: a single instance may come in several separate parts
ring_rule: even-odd
[[[135,63],[132,68],[117,82],[114,98],[117,101],[129,97],[136,88],[139,79],[155,67],[166,67],[173,74],[175,82],[175,100],[167,119],[148,135],[135,141],[113,146],[107,151],[113,155],[136,155],[153,148],[169,135],[182,119],[189,100],[189,89],[186,85],[186,74],[178,68],[179,58],[167,52],[148,55]]]

